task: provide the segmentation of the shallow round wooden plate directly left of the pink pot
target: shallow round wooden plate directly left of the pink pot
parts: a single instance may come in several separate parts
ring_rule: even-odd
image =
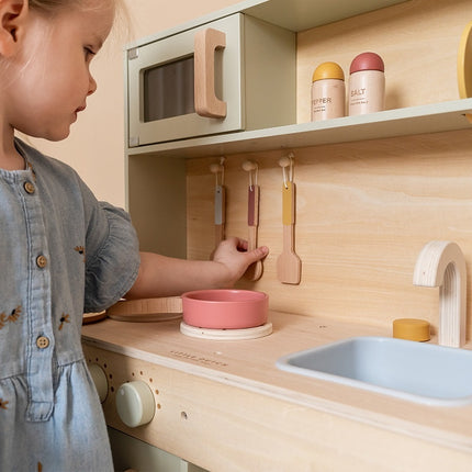
[[[106,315],[119,322],[167,322],[182,315],[182,299],[122,300],[106,310]]]

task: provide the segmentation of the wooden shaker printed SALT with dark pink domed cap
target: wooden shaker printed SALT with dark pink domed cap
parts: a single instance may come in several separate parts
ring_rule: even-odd
[[[356,56],[349,69],[349,115],[374,113],[384,110],[385,66],[375,53]]]

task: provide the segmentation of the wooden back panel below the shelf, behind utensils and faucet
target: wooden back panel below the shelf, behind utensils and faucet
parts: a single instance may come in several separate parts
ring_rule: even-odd
[[[277,279],[282,249],[282,169],[277,150],[235,155],[225,162],[226,233],[247,237],[246,159],[259,165],[259,243],[270,248],[258,282],[273,310],[391,326],[397,317],[438,324],[438,289],[413,286],[423,246],[450,239],[462,248],[471,280],[472,133],[469,131],[317,146],[295,150],[295,248],[300,285]],[[214,247],[210,165],[187,161],[188,256]],[[470,282],[468,283],[468,286]],[[468,290],[469,318],[471,312]],[[469,338],[471,326],[468,325]]]

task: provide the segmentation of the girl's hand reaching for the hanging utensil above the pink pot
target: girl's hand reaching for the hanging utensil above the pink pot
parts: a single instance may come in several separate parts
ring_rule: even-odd
[[[225,272],[222,274],[224,286],[233,286],[246,272],[247,268],[265,258],[269,254],[266,246],[247,250],[247,241],[237,237],[229,237],[213,252],[213,261],[221,263]]]

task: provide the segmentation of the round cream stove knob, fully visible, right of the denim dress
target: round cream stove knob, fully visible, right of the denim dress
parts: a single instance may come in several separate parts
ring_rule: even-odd
[[[148,424],[155,409],[153,392],[142,380],[123,383],[116,391],[117,414],[130,428]]]

